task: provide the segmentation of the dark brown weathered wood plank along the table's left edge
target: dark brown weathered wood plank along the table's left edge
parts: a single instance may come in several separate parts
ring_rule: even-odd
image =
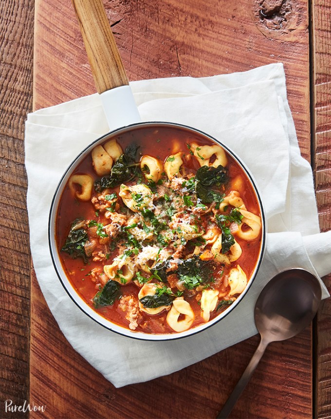
[[[34,4],[0,2],[0,417],[29,400],[30,256],[24,120],[32,110]],[[28,413],[21,414],[27,417]]]

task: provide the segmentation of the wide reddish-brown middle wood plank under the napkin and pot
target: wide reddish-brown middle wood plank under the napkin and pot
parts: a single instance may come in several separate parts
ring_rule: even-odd
[[[203,14],[197,0],[107,1],[106,8],[130,80],[210,76],[284,62],[299,143],[310,158],[306,1],[268,6],[207,0]],[[37,0],[35,27],[35,109],[94,92],[67,2]],[[47,405],[32,418],[215,417],[258,341],[253,337],[169,376],[116,389],[65,340],[34,276],[31,307],[30,400]],[[311,355],[311,328],[272,344],[232,417],[311,418]]]

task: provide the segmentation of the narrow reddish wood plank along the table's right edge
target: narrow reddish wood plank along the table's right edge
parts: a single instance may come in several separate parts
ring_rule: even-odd
[[[312,2],[314,173],[319,223],[331,229],[331,8]],[[331,291],[331,276],[325,278]],[[331,417],[331,301],[323,302],[317,316],[317,418]]]

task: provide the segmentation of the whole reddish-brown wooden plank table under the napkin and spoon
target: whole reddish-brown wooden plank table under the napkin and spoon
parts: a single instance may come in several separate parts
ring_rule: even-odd
[[[130,80],[211,76],[283,62],[299,145],[315,175],[320,227],[331,229],[326,0],[108,0],[105,5]],[[34,40],[31,0],[2,0],[0,16],[0,417],[29,415],[6,413],[4,400],[46,406],[32,418],[216,417],[257,336],[169,376],[116,389],[63,337],[33,270],[30,284],[26,113],[95,88],[70,0],[36,0]],[[330,286],[330,277],[325,281]],[[231,417],[331,417],[330,329],[327,300],[312,326],[269,346]]]

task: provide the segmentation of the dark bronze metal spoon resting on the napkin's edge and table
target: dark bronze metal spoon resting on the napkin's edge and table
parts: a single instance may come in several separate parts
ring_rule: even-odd
[[[321,294],[317,278],[300,268],[279,273],[262,289],[255,305],[255,324],[261,341],[217,418],[230,415],[267,345],[292,338],[310,324]]]

